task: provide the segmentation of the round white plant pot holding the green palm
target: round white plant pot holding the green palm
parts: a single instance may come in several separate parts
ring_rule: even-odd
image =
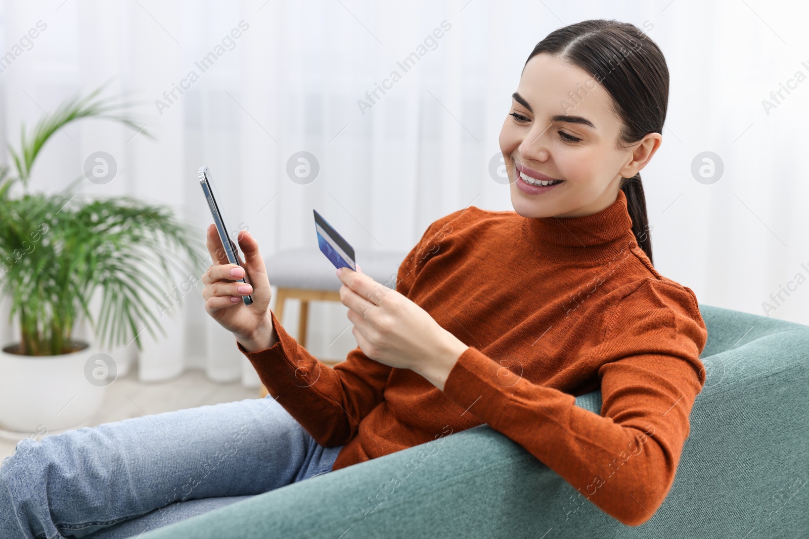
[[[114,362],[95,346],[59,356],[19,356],[0,350],[0,429],[21,437],[61,432],[87,423],[99,410]],[[97,355],[97,356],[96,356]],[[95,356],[95,357],[93,357]]]

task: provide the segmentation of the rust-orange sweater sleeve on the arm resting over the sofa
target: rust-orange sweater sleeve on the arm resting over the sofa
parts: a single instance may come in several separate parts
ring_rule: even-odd
[[[690,288],[644,280],[587,353],[601,381],[601,414],[469,347],[444,393],[519,443],[624,524],[649,520],[674,482],[688,416],[705,384],[707,331]]]

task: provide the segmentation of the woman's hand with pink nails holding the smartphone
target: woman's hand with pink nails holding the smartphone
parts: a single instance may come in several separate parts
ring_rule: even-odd
[[[264,259],[258,251],[258,242],[246,230],[239,233],[244,268],[228,262],[222,240],[213,224],[208,227],[207,246],[214,264],[202,275],[205,311],[220,326],[231,331],[246,351],[257,352],[273,346],[277,342],[269,310],[273,293]],[[249,284],[237,282],[244,277],[245,269],[248,273],[245,280]],[[239,287],[243,286],[247,288],[240,291]],[[252,304],[245,305],[242,297],[249,294],[252,294]]]

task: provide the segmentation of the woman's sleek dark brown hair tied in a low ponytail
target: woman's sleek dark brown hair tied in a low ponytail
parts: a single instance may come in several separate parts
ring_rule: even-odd
[[[668,67],[663,53],[634,24],[591,19],[557,28],[528,60],[548,53],[587,71],[612,96],[624,124],[619,142],[632,145],[647,133],[663,133],[668,104]],[[528,60],[525,63],[528,63]],[[637,245],[652,259],[649,217],[640,173],[621,180]]]

